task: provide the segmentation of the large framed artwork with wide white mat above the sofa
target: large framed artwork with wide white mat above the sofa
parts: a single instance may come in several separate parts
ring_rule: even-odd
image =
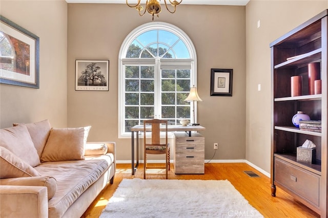
[[[0,83],[39,88],[39,37],[1,15]]]

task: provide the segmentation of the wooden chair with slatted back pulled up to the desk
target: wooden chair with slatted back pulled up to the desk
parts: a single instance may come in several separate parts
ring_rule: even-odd
[[[160,143],[160,124],[165,125],[165,143]],[[147,127],[146,127],[147,125]],[[150,126],[149,126],[150,125]],[[147,143],[147,131],[151,128],[151,143]],[[148,130],[150,132],[150,130]],[[147,154],[166,155],[166,179],[168,179],[168,170],[170,170],[170,144],[168,143],[168,121],[167,120],[144,120],[144,179],[146,179]],[[156,167],[157,168],[157,167]],[[159,167],[158,167],[159,168]]]

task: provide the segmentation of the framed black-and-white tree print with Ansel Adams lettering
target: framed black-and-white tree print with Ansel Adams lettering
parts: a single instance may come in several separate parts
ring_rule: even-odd
[[[109,60],[75,60],[75,90],[108,91]]]

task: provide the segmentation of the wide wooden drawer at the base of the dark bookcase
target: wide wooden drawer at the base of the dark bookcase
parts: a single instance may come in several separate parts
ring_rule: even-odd
[[[320,176],[278,158],[275,158],[274,162],[275,182],[319,206]]]

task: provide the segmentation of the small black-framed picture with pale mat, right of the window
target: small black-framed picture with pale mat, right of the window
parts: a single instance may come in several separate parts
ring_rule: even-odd
[[[211,69],[211,96],[232,96],[233,69]]]

